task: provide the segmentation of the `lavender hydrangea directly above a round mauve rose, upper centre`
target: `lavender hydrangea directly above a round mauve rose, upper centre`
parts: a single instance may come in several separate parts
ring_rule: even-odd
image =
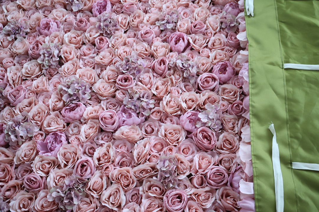
[[[137,55],[124,57],[122,61],[115,64],[116,68],[125,74],[135,77],[144,70],[143,59]]]

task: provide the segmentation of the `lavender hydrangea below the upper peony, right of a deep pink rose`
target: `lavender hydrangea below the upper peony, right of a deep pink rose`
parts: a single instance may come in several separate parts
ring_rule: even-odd
[[[191,84],[194,84],[197,80],[198,67],[194,61],[189,60],[186,55],[179,55],[177,60],[171,60],[170,67],[176,67],[183,72],[185,78],[189,79]]]

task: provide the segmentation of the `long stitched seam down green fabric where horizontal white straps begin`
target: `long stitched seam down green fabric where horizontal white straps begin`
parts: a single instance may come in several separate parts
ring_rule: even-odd
[[[285,77],[285,69],[284,69],[284,58],[282,54],[282,49],[281,49],[281,40],[280,40],[280,31],[279,31],[279,21],[278,21],[278,10],[277,10],[277,1],[274,0],[275,3],[275,12],[276,12],[276,21],[277,21],[277,31],[278,31],[278,41],[279,41],[279,50],[280,50],[280,57],[281,57],[281,70],[283,74],[283,80],[284,80],[284,92],[285,92],[285,110],[286,110],[286,129],[287,129],[287,137],[288,137],[288,148],[289,148],[289,153],[290,153],[290,166],[292,166],[292,151],[291,151],[291,144],[290,144],[290,136],[289,136],[289,122],[288,122],[288,100],[287,100],[287,89],[286,89],[286,77]],[[295,189],[295,200],[296,200],[296,210],[297,212],[299,211],[298,208],[298,203],[297,203],[297,191],[296,191],[296,186],[295,186],[295,181],[293,177],[293,169],[290,167],[291,175],[293,178],[293,187]]]

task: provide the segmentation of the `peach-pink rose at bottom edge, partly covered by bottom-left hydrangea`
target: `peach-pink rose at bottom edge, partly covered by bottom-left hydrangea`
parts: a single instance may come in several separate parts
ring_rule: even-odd
[[[34,209],[38,212],[47,212],[52,211],[56,212],[58,211],[58,204],[55,201],[48,201],[48,194],[50,192],[46,189],[41,190],[38,193],[37,198],[34,202]]]

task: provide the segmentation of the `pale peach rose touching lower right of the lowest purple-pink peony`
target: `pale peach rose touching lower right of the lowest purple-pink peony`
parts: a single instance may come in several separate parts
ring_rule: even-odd
[[[74,144],[63,144],[57,153],[57,158],[62,168],[73,168],[78,158],[80,151]]]

